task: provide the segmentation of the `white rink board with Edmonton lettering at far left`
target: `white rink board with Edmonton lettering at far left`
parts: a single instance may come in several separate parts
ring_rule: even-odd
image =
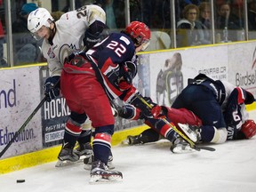
[[[40,102],[38,67],[0,71],[0,150]],[[42,148],[41,111],[20,133],[3,157],[17,156]]]

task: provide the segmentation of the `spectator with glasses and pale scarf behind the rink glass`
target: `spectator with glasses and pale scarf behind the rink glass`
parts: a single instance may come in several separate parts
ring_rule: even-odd
[[[188,4],[183,10],[184,19],[177,23],[177,46],[209,44],[204,38],[202,23],[197,20],[199,9],[196,4]]]

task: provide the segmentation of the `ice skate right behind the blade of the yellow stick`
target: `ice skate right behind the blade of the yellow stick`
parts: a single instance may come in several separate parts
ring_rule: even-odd
[[[178,153],[178,154],[190,153],[195,151],[195,149],[191,148],[188,142],[183,140],[180,136],[172,142],[172,146],[170,149],[172,153]]]

